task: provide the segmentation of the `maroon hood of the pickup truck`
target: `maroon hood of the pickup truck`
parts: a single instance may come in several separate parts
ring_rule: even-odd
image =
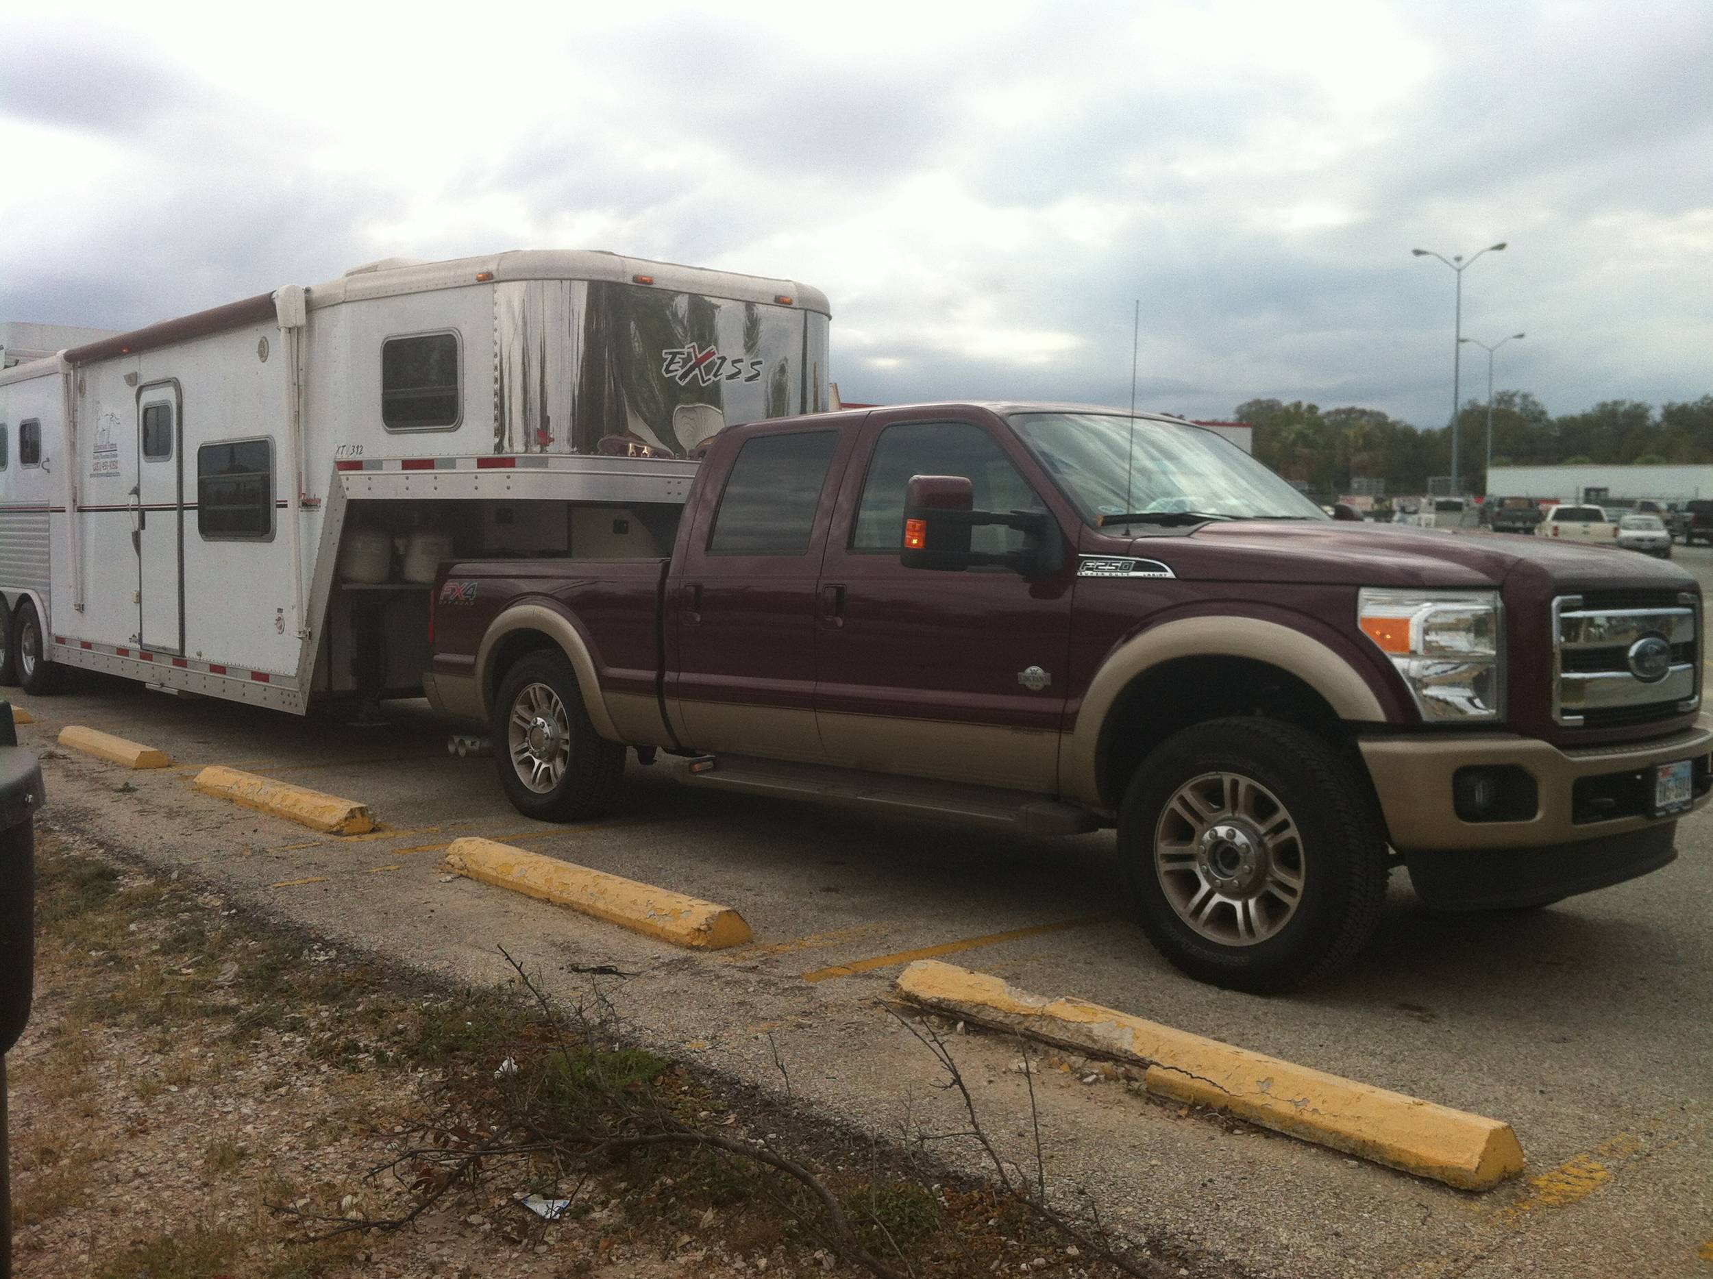
[[[1177,577],[1204,582],[1494,587],[1516,574],[1561,591],[1696,589],[1682,568],[1615,546],[1403,524],[1204,524],[1187,536],[1093,534],[1083,551],[1160,560]]]

